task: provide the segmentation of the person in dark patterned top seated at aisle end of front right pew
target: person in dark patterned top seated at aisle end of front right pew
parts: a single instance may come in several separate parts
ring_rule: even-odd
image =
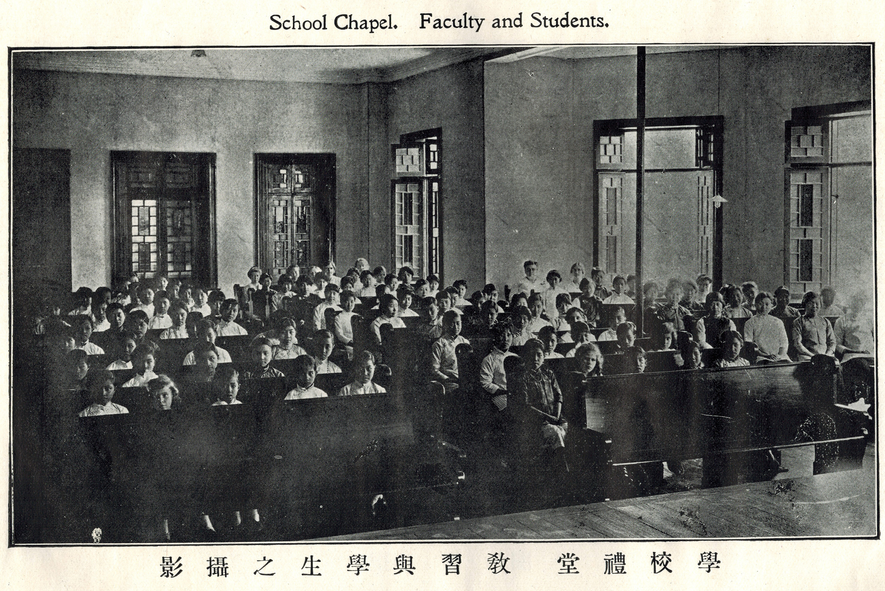
[[[539,439],[542,449],[555,451],[566,446],[568,422],[562,416],[562,392],[556,375],[544,364],[543,350],[542,342],[537,339],[526,343],[522,354],[525,364],[522,371],[509,380],[507,398],[518,428],[530,430],[523,431],[520,439]],[[540,433],[531,433],[535,429]]]

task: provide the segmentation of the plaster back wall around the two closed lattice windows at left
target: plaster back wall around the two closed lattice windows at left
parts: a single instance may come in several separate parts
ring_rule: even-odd
[[[71,150],[73,288],[111,280],[111,150],[217,155],[221,288],[254,264],[255,153],[334,152],[337,257],[367,254],[365,85],[21,70],[13,84],[14,144]]]

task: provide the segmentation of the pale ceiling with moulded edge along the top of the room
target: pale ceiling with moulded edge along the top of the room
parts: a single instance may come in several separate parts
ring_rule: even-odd
[[[652,45],[648,53],[715,50],[717,45]],[[507,55],[500,56],[504,52]],[[480,47],[296,47],[219,50],[13,51],[30,70],[118,73],[179,78],[361,84],[392,82],[468,59],[510,62],[535,56],[587,59],[635,55],[630,45],[567,45],[526,49]]]

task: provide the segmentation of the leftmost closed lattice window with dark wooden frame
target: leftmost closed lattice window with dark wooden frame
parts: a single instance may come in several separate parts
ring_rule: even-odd
[[[112,152],[116,283],[215,282],[214,154]]]

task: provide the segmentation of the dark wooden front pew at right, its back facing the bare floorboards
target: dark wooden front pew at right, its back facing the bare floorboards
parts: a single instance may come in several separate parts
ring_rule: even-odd
[[[811,364],[604,376],[582,388],[585,412],[573,420],[592,432],[589,459],[604,454],[611,466],[813,444],[818,473],[839,467],[820,446],[837,443],[842,465],[858,467],[866,445],[850,411],[834,406],[835,372]]]

